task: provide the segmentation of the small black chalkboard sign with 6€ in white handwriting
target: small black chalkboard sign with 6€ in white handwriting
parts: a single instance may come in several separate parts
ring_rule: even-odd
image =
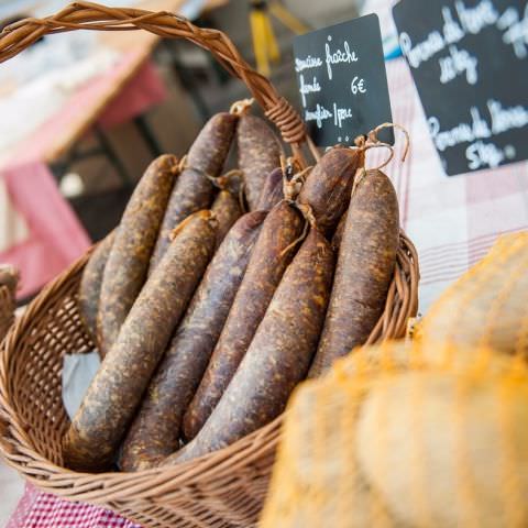
[[[302,117],[319,146],[352,145],[392,121],[380,21],[369,14],[294,40]],[[392,129],[380,140],[394,143]]]

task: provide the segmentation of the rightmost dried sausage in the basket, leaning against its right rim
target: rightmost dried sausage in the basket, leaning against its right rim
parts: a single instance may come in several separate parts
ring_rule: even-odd
[[[398,201],[381,170],[358,180],[346,215],[332,296],[310,377],[363,344],[380,319],[399,240]]]

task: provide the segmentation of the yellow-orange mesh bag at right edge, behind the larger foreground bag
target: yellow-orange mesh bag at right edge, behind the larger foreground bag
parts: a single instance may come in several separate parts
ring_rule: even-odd
[[[442,294],[420,324],[421,339],[527,356],[527,300],[528,231],[524,231],[501,237]],[[441,348],[431,350],[443,355]]]

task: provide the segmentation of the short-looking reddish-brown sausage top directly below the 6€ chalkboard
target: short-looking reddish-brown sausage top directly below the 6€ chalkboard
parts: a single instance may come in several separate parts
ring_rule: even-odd
[[[324,154],[306,178],[298,202],[310,206],[317,227],[332,232],[349,207],[354,176],[365,162],[361,148],[336,147]]]

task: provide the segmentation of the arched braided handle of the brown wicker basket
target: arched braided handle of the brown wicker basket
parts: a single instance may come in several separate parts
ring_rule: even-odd
[[[108,8],[92,2],[75,2],[57,14],[44,19],[25,19],[9,25],[0,34],[0,63],[18,55],[46,34],[75,30],[145,30],[166,38],[186,38],[208,50],[234,77],[240,78],[277,127],[294,156],[302,165],[300,146],[308,143],[317,160],[318,152],[306,134],[306,127],[289,102],[278,95],[272,82],[255,72],[221,31],[194,25],[184,16],[167,11],[152,12],[132,8]]]

